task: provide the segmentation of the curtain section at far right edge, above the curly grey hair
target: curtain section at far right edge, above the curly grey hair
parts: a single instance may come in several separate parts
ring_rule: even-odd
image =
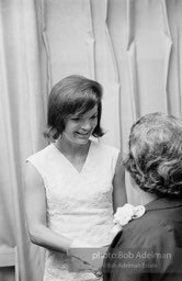
[[[168,110],[169,113],[182,117],[182,1],[166,0],[163,5],[168,24],[167,34],[172,42],[167,79]]]

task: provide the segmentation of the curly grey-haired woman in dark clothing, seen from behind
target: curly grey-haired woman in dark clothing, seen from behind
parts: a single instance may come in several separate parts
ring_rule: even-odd
[[[146,213],[120,232],[106,252],[104,281],[182,280],[182,122],[162,113],[132,127],[124,166]]]

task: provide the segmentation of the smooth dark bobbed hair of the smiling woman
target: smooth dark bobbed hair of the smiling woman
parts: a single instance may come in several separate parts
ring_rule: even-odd
[[[44,136],[57,139],[65,130],[66,121],[71,115],[81,115],[98,105],[98,124],[92,133],[101,137],[102,86],[91,79],[73,75],[56,83],[48,98],[47,130]]]

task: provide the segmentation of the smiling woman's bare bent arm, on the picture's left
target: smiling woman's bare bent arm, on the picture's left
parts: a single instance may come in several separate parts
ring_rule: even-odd
[[[37,170],[30,164],[25,169],[25,212],[32,243],[66,252],[71,239],[54,233],[46,226],[46,193]]]

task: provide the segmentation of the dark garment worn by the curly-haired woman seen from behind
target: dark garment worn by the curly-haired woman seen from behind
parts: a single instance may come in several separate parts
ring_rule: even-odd
[[[124,226],[103,263],[104,281],[182,281],[182,200],[157,199]]]

